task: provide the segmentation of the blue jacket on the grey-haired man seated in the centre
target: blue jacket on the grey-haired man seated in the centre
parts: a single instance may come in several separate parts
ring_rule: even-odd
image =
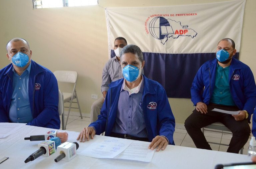
[[[169,144],[173,144],[173,133],[175,128],[175,119],[166,95],[166,92],[158,82],[146,78],[144,75],[144,90],[142,96],[142,109],[148,139],[151,142],[157,135],[164,135],[168,138]],[[106,99],[101,108],[98,120],[91,123],[96,129],[96,134],[105,131],[105,135],[109,136],[116,120],[117,105],[119,94],[124,79],[112,82],[106,95]],[[156,109],[149,109],[147,106],[152,102],[157,103]]]

